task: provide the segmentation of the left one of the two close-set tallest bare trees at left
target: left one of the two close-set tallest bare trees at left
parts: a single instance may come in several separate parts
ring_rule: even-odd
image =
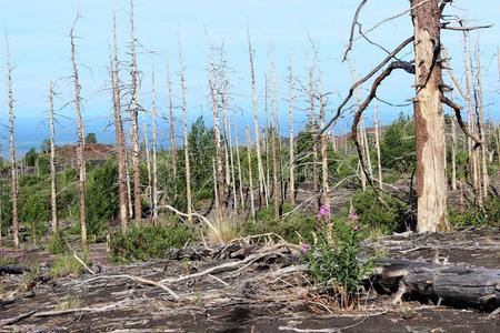
[[[127,194],[127,157],[126,157],[126,144],[123,135],[123,121],[121,117],[121,90],[120,90],[120,78],[119,78],[119,60],[118,60],[118,38],[117,38],[117,19],[113,12],[113,49],[111,57],[111,90],[112,90],[112,102],[113,102],[113,117],[114,117],[114,134],[116,134],[116,152],[118,159],[118,196],[120,201],[120,225],[121,232],[124,234],[127,232],[127,224],[129,222],[127,205],[128,205],[128,194]]]

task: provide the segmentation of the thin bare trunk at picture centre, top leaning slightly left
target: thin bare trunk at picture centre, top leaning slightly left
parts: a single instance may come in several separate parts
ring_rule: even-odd
[[[257,99],[257,82],[256,82],[256,67],[253,63],[253,49],[250,41],[250,31],[247,30],[248,36],[248,53],[250,58],[250,77],[252,87],[252,112],[253,112],[253,129],[256,131],[256,152],[257,152],[257,168],[259,179],[259,198],[264,198],[268,204],[268,193],[264,184],[264,171],[262,165],[262,155],[260,152],[260,135],[259,135],[259,118],[258,118],[258,99]]]

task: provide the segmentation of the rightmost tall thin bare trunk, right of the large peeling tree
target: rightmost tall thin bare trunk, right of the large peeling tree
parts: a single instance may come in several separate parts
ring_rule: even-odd
[[[477,43],[477,50],[476,50],[476,103],[477,103],[477,110],[478,110],[478,133],[479,139],[482,140],[481,144],[481,180],[482,180],[482,196],[483,201],[486,202],[488,199],[488,189],[490,185],[490,179],[488,175],[488,138],[487,138],[487,130],[484,127],[484,110],[483,110],[483,98],[482,98],[482,84],[481,84],[481,50],[480,50],[480,42],[478,37],[478,43]],[[479,161],[478,161],[479,164]],[[481,184],[481,181],[480,181]]]

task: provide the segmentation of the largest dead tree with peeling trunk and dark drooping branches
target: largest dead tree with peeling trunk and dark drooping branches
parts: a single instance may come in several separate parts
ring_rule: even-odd
[[[361,24],[358,22],[359,12],[367,1],[362,1],[358,7],[354,20],[351,26],[351,36],[347,52],[352,49],[354,41],[356,28],[359,28],[361,37],[366,38],[362,32]],[[373,179],[368,172],[360,142],[358,140],[358,124],[362,112],[368,108],[370,102],[377,97],[377,89],[394,70],[404,70],[416,74],[416,99],[414,121],[417,132],[417,195],[418,195],[418,232],[434,232],[437,230],[446,230],[449,228],[447,221],[447,180],[446,180],[446,143],[444,143],[444,117],[442,112],[442,103],[447,104],[454,111],[461,130],[476,142],[474,148],[481,145],[473,133],[467,129],[461,119],[461,108],[452,100],[444,95],[449,91],[449,87],[442,81],[441,68],[443,60],[441,54],[441,27],[450,30],[463,31],[464,28],[448,27],[448,22],[441,24],[441,16],[450,1],[411,1],[411,17],[413,20],[413,36],[401,42],[394,50],[387,51],[387,57],[366,77],[358,80],[349,89],[348,95],[337,108],[334,117],[322,129],[326,131],[340,115],[346,111],[344,107],[353,95],[354,90],[362,83],[373,78],[381,69],[386,68],[373,80],[369,95],[361,103],[359,110],[354,114],[354,121],[351,127],[352,140],[354,141],[361,165],[367,174],[370,185],[373,186]],[[467,28],[479,29],[486,27]],[[414,64],[401,60],[394,60],[407,46],[413,42]],[[344,58],[347,57],[347,52]],[[392,62],[391,62],[392,61]],[[390,63],[390,64],[389,64]],[[373,186],[374,189],[374,186]]]

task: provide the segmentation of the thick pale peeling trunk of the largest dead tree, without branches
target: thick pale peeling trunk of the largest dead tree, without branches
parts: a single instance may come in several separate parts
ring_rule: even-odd
[[[447,221],[447,178],[444,117],[441,105],[440,10],[438,0],[412,0],[414,26],[416,90],[414,122],[417,135],[418,232],[449,228]]]

